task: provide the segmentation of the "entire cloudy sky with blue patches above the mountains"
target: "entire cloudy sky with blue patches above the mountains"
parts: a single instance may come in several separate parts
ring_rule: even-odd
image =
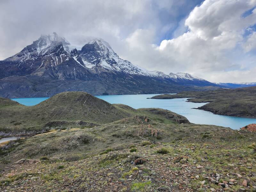
[[[256,0],[0,1],[0,60],[41,34],[83,46],[107,41],[120,58],[210,82],[256,82]]]

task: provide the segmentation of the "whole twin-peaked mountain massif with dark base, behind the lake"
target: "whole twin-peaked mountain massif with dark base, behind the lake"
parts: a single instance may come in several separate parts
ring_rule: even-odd
[[[50,97],[65,91],[147,94],[216,86],[189,74],[165,75],[135,66],[103,39],[92,39],[81,50],[71,47],[56,33],[42,35],[0,61],[0,97]]]

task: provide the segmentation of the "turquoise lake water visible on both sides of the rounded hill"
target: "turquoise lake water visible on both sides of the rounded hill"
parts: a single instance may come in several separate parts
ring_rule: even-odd
[[[186,102],[187,98],[182,99],[147,99],[159,94],[144,94],[144,95],[106,95],[96,96],[111,104],[122,103],[129,105],[132,108],[163,108],[178,113],[188,118],[191,123],[195,124],[210,124],[232,129],[239,129],[245,125],[256,123],[255,118],[243,118],[233,116],[215,115],[208,111],[193,109],[203,106],[206,103],[191,103]],[[48,97],[42,98],[17,98],[12,99],[26,106],[36,105]]]

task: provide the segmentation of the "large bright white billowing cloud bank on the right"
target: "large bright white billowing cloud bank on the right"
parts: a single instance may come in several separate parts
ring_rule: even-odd
[[[256,81],[252,75],[256,57],[248,58],[242,50],[242,47],[247,51],[256,48],[254,33],[243,43],[244,31],[256,23],[256,14],[241,17],[255,4],[250,0],[205,0],[186,19],[185,25],[189,28],[186,33],[163,40],[156,47],[140,43],[147,38],[147,33],[138,35],[137,30],[131,36],[139,37],[130,45],[140,44],[139,49],[132,49],[138,54],[129,52],[128,55],[132,54],[133,62],[152,70],[184,71],[213,82]]]

